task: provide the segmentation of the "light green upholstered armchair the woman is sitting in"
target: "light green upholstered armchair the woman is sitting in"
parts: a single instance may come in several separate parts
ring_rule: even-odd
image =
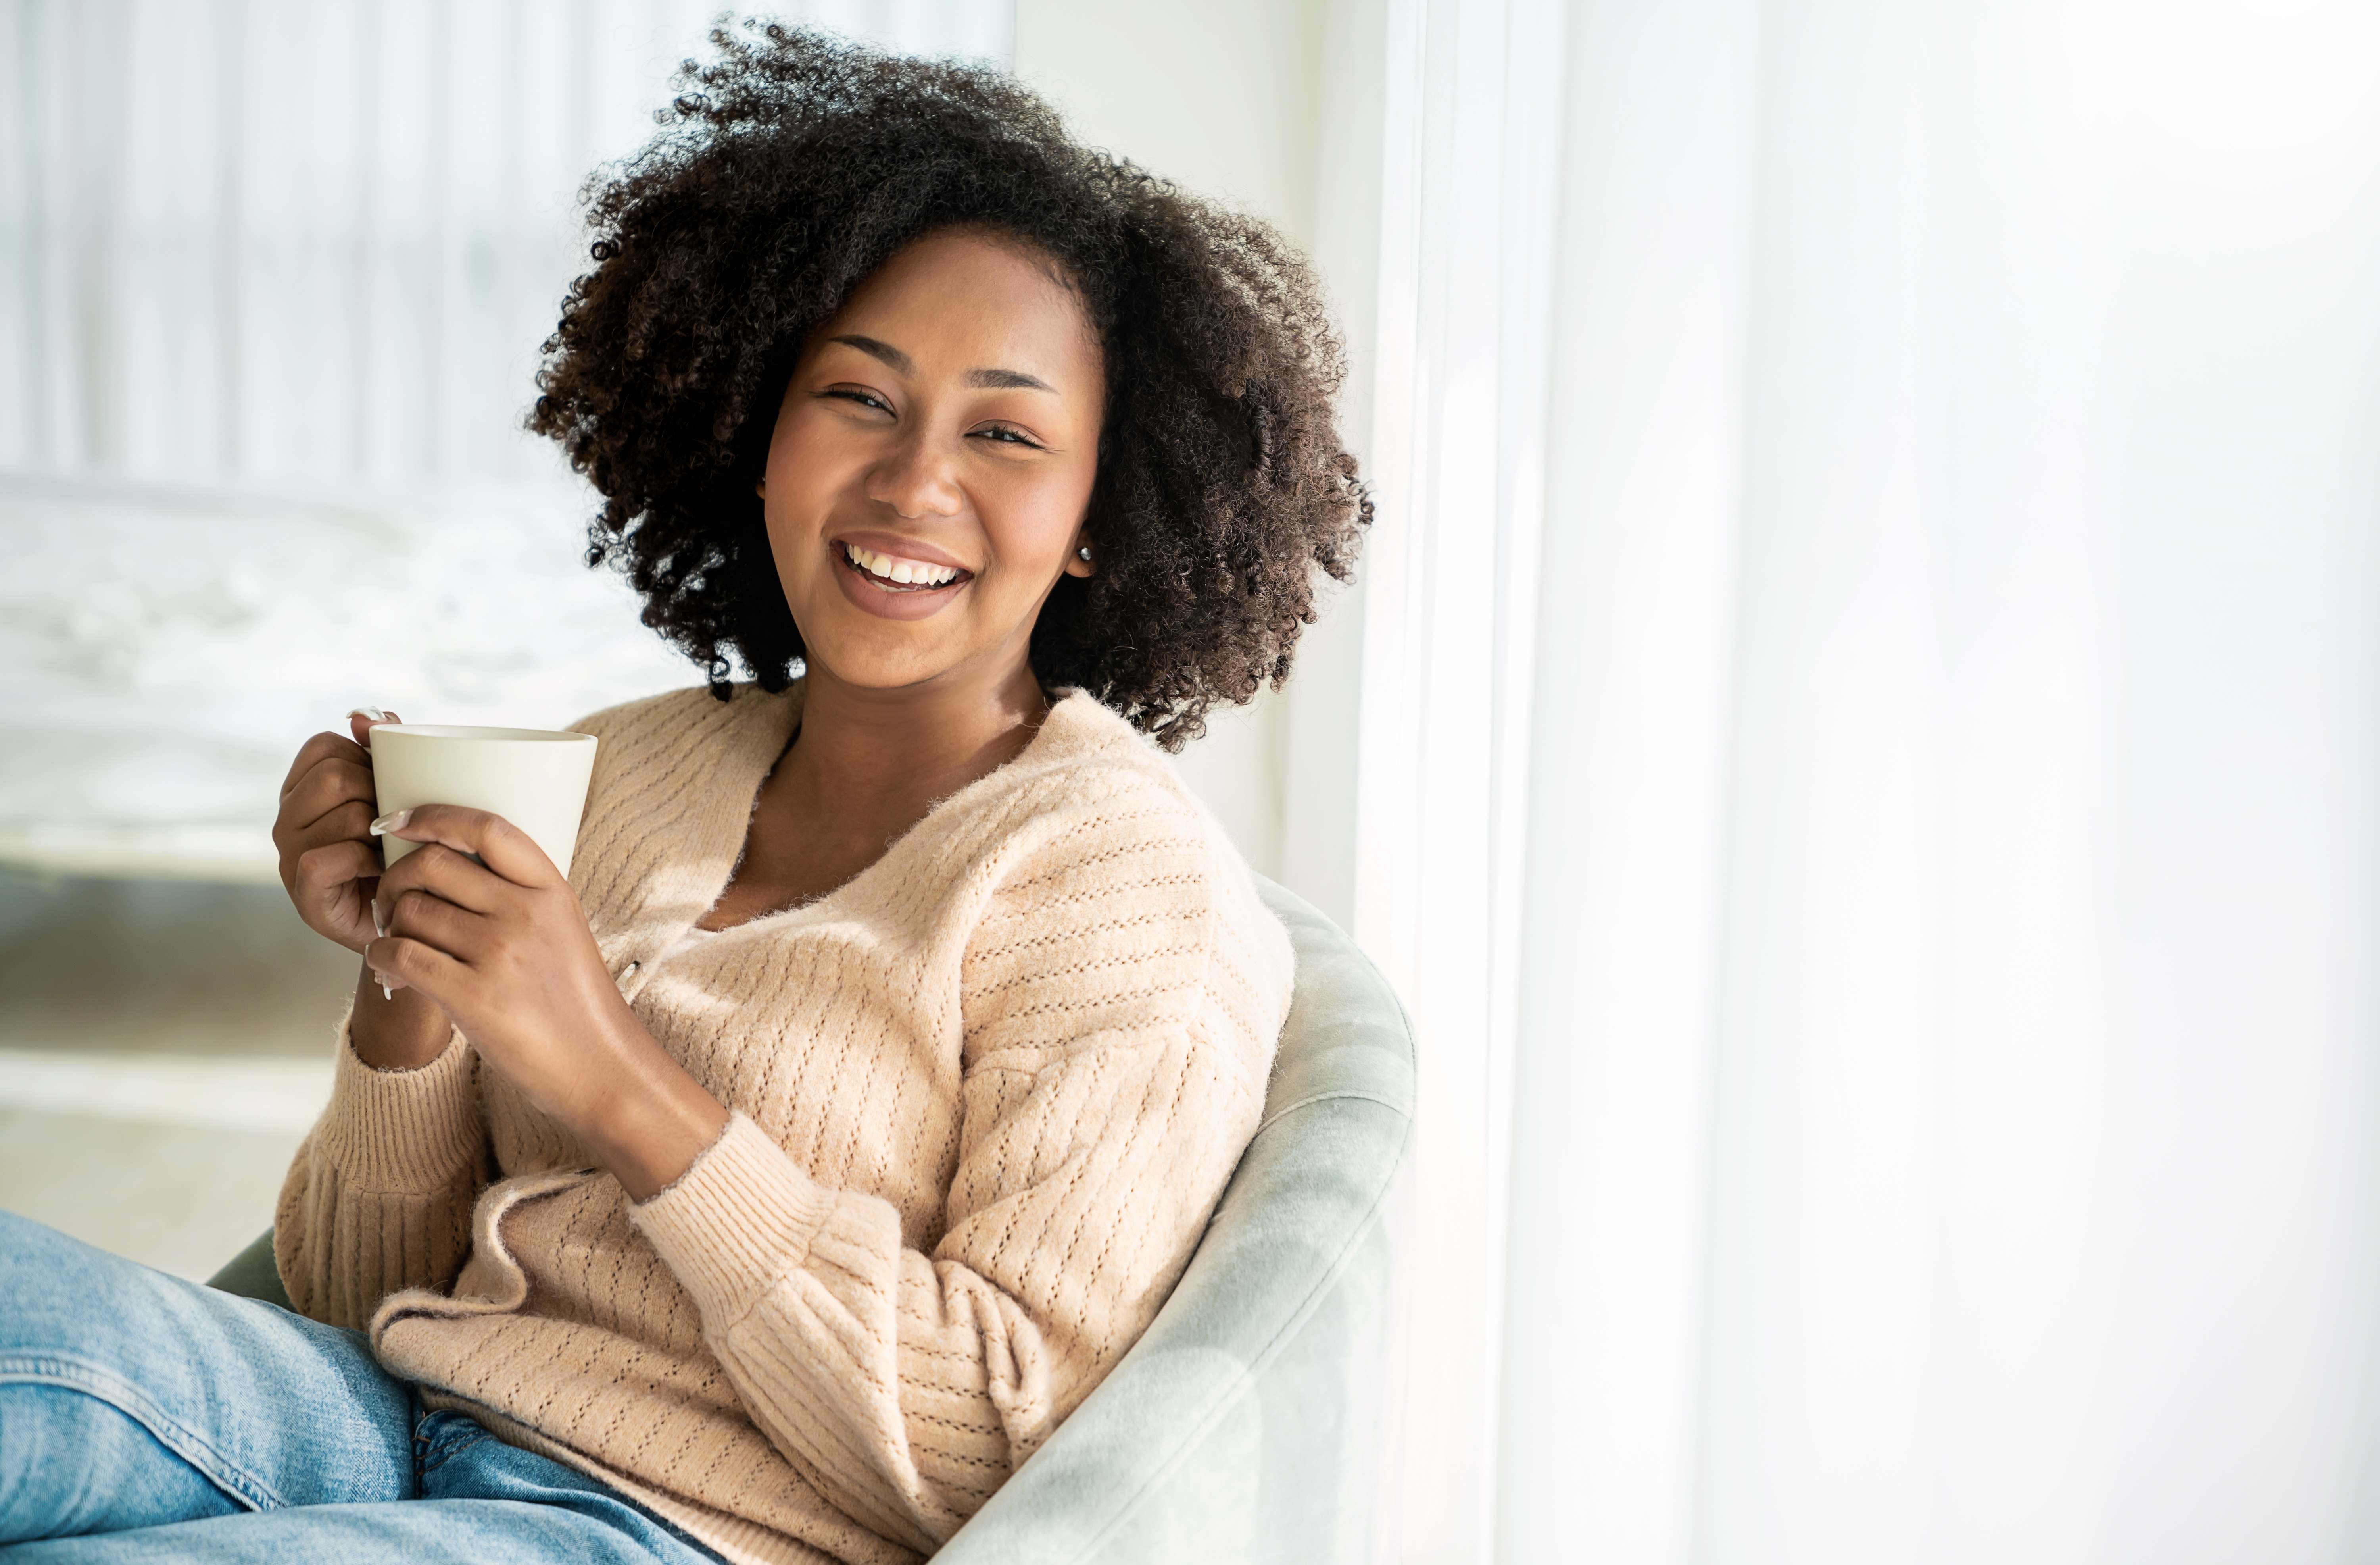
[[[1259,884],[1297,946],[1297,996],[1257,1139],[1147,1334],[942,1565],[1371,1555],[1414,1031],[1354,941]],[[214,1286],[288,1303],[271,1234]]]

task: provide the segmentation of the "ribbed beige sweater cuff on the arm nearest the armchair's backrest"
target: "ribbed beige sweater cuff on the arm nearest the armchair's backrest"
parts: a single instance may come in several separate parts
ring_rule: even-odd
[[[835,1191],[735,1110],[719,1141],[666,1191],[631,1205],[628,1217],[685,1284],[704,1324],[726,1329],[809,1258],[833,1210]]]

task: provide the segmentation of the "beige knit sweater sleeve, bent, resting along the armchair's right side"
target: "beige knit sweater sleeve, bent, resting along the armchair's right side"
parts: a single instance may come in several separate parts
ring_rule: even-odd
[[[1209,838],[1126,836],[1014,877],[969,943],[938,1243],[743,1112],[633,1208],[771,1444],[919,1551],[1150,1324],[1257,1127],[1288,936]]]

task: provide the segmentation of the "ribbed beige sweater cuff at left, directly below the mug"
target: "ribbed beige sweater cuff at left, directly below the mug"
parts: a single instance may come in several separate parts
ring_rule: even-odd
[[[314,1151],[364,1191],[445,1189],[488,1139],[474,1081],[474,1053],[459,1031],[419,1070],[374,1070],[355,1058],[350,1020],[338,1022],[331,1108],[314,1127]]]

